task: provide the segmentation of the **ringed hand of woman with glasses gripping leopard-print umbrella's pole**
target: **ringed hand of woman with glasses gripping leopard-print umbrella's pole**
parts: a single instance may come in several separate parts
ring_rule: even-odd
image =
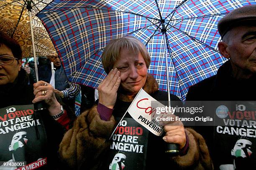
[[[54,94],[54,87],[44,81],[38,81],[34,83],[34,95],[33,103],[44,101],[50,112],[50,115],[56,115],[61,111],[59,102],[56,100]]]

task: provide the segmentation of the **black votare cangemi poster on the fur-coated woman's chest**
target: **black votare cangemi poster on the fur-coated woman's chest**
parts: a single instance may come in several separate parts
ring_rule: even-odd
[[[106,169],[145,169],[148,143],[148,130],[146,128],[132,118],[124,117],[110,140]]]

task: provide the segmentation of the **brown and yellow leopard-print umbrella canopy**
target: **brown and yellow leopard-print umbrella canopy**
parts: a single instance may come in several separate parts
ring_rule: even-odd
[[[13,37],[20,44],[23,57],[32,57],[30,20],[26,9],[28,0],[0,0],[0,31]],[[41,21],[35,16],[51,0],[33,0],[32,23],[37,56],[56,53],[51,39]]]

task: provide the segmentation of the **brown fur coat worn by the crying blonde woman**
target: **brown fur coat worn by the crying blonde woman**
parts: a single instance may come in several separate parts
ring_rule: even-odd
[[[148,94],[158,91],[158,83],[152,75],[148,74],[143,90]],[[128,97],[120,93],[118,93],[118,99],[131,102]],[[97,112],[97,105],[84,111],[77,117],[73,128],[67,131],[60,144],[59,156],[63,165],[69,169],[100,169],[105,151],[110,147],[108,138],[115,128],[115,123],[113,115],[109,121],[101,120]],[[189,138],[187,154],[172,157],[170,161],[179,169],[212,169],[205,140],[195,130],[189,128],[185,130]]]

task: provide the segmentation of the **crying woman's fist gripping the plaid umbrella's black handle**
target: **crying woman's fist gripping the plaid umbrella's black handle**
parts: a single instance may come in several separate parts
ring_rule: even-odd
[[[166,132],[163,138],[165,142],[177,143],[179,144],[179,149],[186,145],[186,133],[181,121],[167,123],[164,125],[164,132]]]

